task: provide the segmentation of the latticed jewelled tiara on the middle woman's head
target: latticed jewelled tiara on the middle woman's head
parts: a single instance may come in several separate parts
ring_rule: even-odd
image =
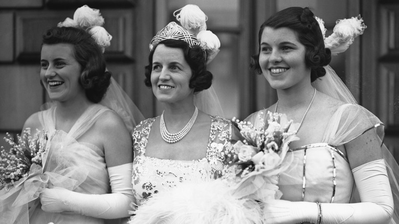
[[[155,35],[149,44],[149,49],[152,49],[162,40],[165,39],[174,39],[174,40],[183,40],[188,43],[190,48],[194,46],[200,46],[204,51],[206,50],[206,43],[198,40],[194,35],[190,34],[186,29],[179,26],[174,22],[170,22],[166,27],[160,30],[157,35]]]

